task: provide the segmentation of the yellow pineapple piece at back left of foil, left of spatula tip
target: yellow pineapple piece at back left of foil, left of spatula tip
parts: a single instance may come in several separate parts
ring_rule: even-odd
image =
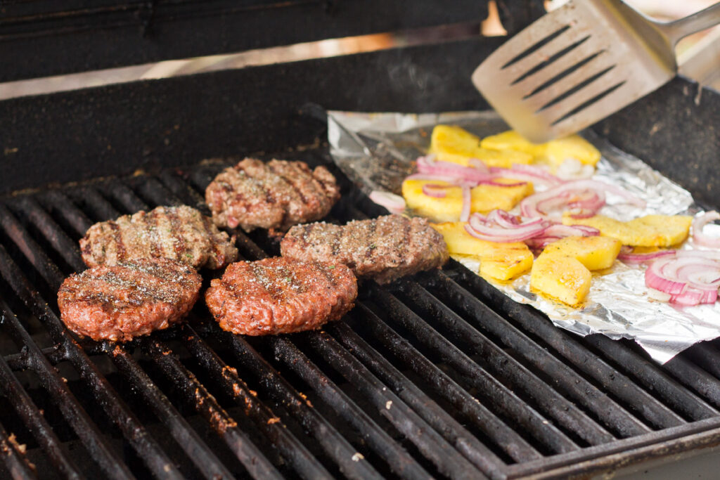
[[[530,163],[532,155],[516,150],[481,148],[480,137],[453,125],[438,125],[430,137],[429,153],[438,160],[468,166],[470,158],[482,160],[487,166],[509,168],[513,163]]]

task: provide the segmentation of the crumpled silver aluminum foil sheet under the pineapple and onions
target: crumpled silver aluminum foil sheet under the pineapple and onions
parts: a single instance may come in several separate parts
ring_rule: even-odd
[[[494,112],[328,112],[330,154],[341,170],[366,193],[384,190],[400,194],[402,179],[413,172],[413,161],[426,153],[436,124],[456,124],[480,137],[508,129]],[[701,211],[688,191],[642,160],[614,148],[593,132],[582,135],[603,155],[593,178],[622,186],[647,201],[645,209],[613,205],[613,196],[608,194],[608,205],[600,214],[629,220],[645,214],[696,214]],[[711,227],[708,225],[707,228]],[[688,240],[683,248],[694,248],[694,245]],[[477,262],[457,260],[470,270],[478,271]],[[720,337],[720,302],[675,307],[649,299],[644,268],[616,261],[602,275],[593,273],[588,299],[584,307],[577,309],[531,292],[529,273],[510,283],[490,283],[516,302],[531,304],[544,312],[557,327],[583,336],[602,333],[613,339],[631,338],[658,363],[669,361],[701,340]]]

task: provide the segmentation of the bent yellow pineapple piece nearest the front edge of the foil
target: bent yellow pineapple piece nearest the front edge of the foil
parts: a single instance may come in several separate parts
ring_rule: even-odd
[[[612,266],[621,246],[611,237],[566,237],[551,243],[533,263],[530,288],[577,306],[590,291],[590,270]]]

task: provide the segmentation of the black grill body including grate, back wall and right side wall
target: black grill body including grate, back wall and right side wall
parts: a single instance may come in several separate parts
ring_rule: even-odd
[[[93,222],[205,209],[228,155],[333,168],[318,106],[485,108],[469,76],[501,41],[0,102],[4,473],[503,479],[714,448],[718,341],[657,366],[631,342],[558,330],[453,262],[387,288],[366,282],[344,320],[300,335],[229,335],[202,304],[186,325],[125,345],[78,342],[58,319],[55,293],[84,268],[77,240]],[[720,95],[697,99],[678,78],[595,130],[717,207]],[[226,159],[200,161],[214,157]],[[331,219],[384,213],[333,172],[343,199]],[[278,253],[263,232],[238,233],[243,258]]]

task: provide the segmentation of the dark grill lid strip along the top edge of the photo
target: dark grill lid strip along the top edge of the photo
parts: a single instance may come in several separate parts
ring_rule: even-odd
[[[541,14],[539,0],[512,3],[508,30]],[[477,0],[5,0],[0,63],[12,68],[0,82],[485,17],[487,1]]]

